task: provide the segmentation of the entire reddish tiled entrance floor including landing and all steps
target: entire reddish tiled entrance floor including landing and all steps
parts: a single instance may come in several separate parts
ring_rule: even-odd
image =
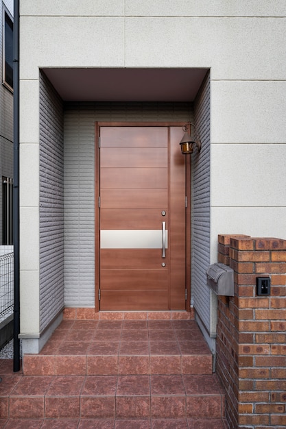
[[[66,319],[23,370],[0,360],[0,428],[226,428],[193,320]]]

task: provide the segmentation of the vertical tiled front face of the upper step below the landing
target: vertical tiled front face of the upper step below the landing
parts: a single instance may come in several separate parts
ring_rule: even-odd
[[[210,375],[211,354],[178,356],[25,355],[25,376]]]

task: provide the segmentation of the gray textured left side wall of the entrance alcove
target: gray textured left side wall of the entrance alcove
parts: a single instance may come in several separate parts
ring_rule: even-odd
[[[63,106],[40,73],[40,330],[64,306]]]

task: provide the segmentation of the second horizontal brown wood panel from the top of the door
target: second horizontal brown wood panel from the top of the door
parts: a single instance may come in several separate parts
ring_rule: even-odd
[[[167,148],[161,147],[101,147],[100,164],[106,167],[164,168],[168,161]]]

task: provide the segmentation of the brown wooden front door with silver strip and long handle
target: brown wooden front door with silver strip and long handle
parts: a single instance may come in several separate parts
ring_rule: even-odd
[[[101,310],[183,310],[186,290],[182,126],[98,125]]]

